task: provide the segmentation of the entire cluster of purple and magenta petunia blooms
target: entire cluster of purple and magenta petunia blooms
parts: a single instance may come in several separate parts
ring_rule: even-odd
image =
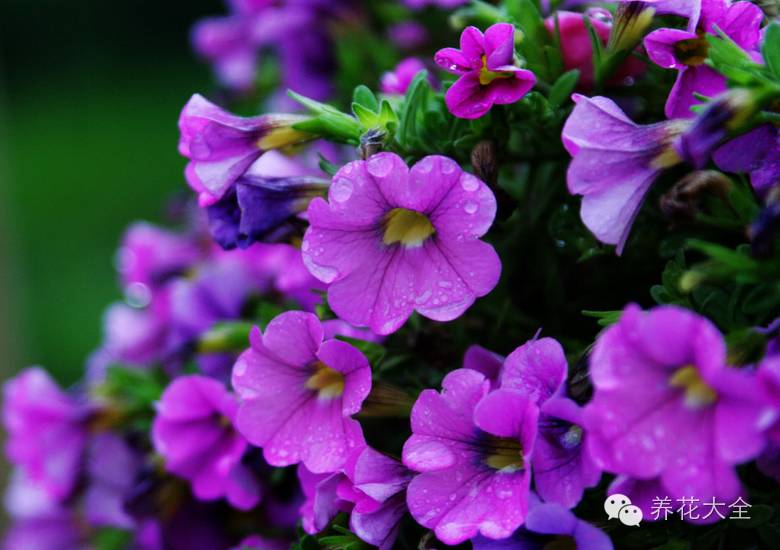
[[[324,21],[348,18],[356,4],[234,0],[229,16],[198,24],[196,49],[224,85],[243,91],[274,50],[284,87],[324,99],[335,70]],[[561,68],[579,75],[559,119],[568,191],[582,196],[583,224],[618,254],[665,171],[712,161],[749,175],[766,201],[780,181],[776,118],[690,146],[706,141],[711,116],[690,108],[728,89],[705,63],[707,36],[725,35],[760,62],[760,9],[725,0],[629,8],[614,20],[604,10],[558,11],[536,29],[559,46]],[[629,102],[584,94],[649,70],[630,51],[606,78],[594,64],[648,10],[687,26],[630,44],[678,71],[668,118],[637,124],[624,112]],[[179,231],[128,229],[117,254],[124,300],[106,310],[83,384],[64,391],[30,368],[5,385],[14,466],[6,547],[77,549],[115,530],[128,548],[265,550],[295,543],[296,526],[310,536],[337,526],[340,547],[354,536],[391,549],[417,547],[419,539],[404,539],[411,524],[447,545],[600,550],[613,547],[612,526],[574,510],[586,493],[604,494],[605,474],[607,494],[630,497],[646,521],[655,496],[746,500],[740,465],[755,462],[780,481],[777,323],[764,330],[762,353],[740,363],[723,327],[680,305],[613,312],[578,364],[580,348],[563,334],[525,343],[516,331],[490,334],[482,299],[524,284],[502,280],[523,251],[496,233],[526,210],[497,223],[511,189],[485,167],[495,169],[496,158],[472,153],[469,171],[454,146],[445,156],[392,141],[398,117],[387,124],[381,116],[411,101],[404,94],[420,81],[439,110],[418,120],[406,108],[403,131],[445,120],[454,139],[469,124],[482,131],[486,116],[516,116],[500,109],[550,88],[518,54],[525,39],[505,21],[484,32],[468,26],[459,48],[440,49],[427,65],[455,75],[441,75],[441,92],[422,73],[426,62],[407,58],[382,77],[370,115],[361,105],[352,117],[311,101],[318,113],[240,117],[194,95],[180,115],[179,151],[199,208]],[[338,131],[371,117],[384,122],[361,127],[358,158],[343,145],[310,144],[356,144]],[[384,151],[366,147],[372,131]],[[388,381],[377,350],[429,356],[416,338],[430,333],[419,327],[447,331],[454,323],[443,323],[456,320],[479,335],[456,346],[466,350],[460,368],[458,358],[428,369],[438,378],[407,372],[417,385]],[[480,345],[497,341],[513,351]],[[587,392],[576,390],[583,369]],[[392,437],[373,423],[398,416],[408,422]]]

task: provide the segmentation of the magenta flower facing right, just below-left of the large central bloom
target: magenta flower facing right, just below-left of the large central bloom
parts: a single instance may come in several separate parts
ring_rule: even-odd
[[[238,429],[272,466],[339,469],[363,445],[351,416],[371,389],[368,360],[346,342],[323,342],[320,321],[300,311],[282,313],[250,340],[233,368]]]

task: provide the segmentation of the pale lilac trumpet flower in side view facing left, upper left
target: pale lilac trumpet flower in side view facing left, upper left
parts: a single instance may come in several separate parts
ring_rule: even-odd
[[[190,159],[185,175],[201,206],[214,204],[271,149],[307,141],[293,125],[306,117],[266,114],[243,118],[195,94],[179,117],[179,152]]]

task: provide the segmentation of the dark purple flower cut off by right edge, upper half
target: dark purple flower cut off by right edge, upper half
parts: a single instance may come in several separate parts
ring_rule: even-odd
[[[761,196],[780,181],[780,130],[764,124],[724,143],[713,154],[718,168],[750,174],[750,183]]]

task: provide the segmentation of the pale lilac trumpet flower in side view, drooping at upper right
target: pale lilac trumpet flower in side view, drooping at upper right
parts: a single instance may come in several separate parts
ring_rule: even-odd
[[[601,242],[623,251],[634,218],[658,174],[680,162],[674,140],[687,126],[671,120],[642,126],[606,97],[572,96],[563,127],[572,161],[569,192],[583,195],[580,217]]]

